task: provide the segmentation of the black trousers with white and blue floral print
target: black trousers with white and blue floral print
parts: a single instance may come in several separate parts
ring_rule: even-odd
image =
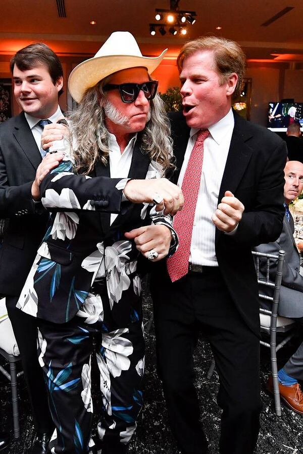
[[[103,398],[96,445],[91,439],[93,339]],[[113,320],[88,324],[78,316],[64,324],[39,320],[38,344],[56,426],[51,452],[125,453],[142,407],[142,321],[121,328]]]

